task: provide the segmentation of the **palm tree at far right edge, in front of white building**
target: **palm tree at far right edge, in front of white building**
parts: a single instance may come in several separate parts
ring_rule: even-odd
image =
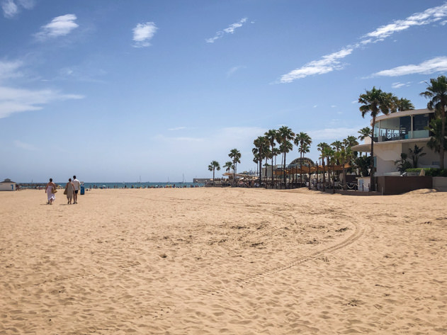
[[[447,77],[438,76],[436,79],[430,79],[430,85],[427,83],[426,91],[420,94],[426,98],[431,98],[427,103],[429,110],[440,111],[441,116],[441,143],[439,145],[440,168],[444,169],[444,147],[446,143],[446,107],[447,107]]]

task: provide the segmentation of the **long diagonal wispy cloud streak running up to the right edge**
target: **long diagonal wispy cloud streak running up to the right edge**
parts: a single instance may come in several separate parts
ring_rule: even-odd
[[[428,8],[421,13],[414,13],[404,20],[396,20],[390,24],[382,25],[379,28],[363,35],[360,42],[356,42],[353,45],[346,45],[342,47],[340,51],[323,56],[321,59],[313,60],[307,64],[294,69],[287,74],[283,74],[279,79],[279,83],[290,83],[295,79],[302,79],[306,76],[312,76],[316,74],[326,74],[334,70],[341,70],[344,68],[344,64],[341,63],[341,59],[351,55],[353,50],[364,47],[368,44],[379,42],[385,38],[390,37],[394,33],[407,30],[417,25],[427,25],[441,21],[447,17],[447,3],[441,6]],[[443,21],[442,21],[443,22]],[[441,24],[442,24],[441,22]]]

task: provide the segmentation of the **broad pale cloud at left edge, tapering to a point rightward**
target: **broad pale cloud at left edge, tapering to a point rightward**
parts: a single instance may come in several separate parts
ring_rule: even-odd
[[[63,94],[50,89],[31,91],[0,86],[0,118],[6,118],[13,113],[21,113],[43,109],[42,105],[52,101],[81,99],[84,96]]]

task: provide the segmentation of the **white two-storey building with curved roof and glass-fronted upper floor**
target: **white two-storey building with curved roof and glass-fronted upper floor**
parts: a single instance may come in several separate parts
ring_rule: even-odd
[[[404,110],[375,118],[373,135],[375,176],[395,174],[397,171],[395,161],[400,159],[401,153],[407,154],[408,160],[411,161],[409,149],[414,149],[414,145],[424,147],[422,153],[425,153],[419,158],[418,166],[414,167],[438,168],[440,166],[438,152],[427,147],[430,134],[426,127],[433,118],[434,110],[428,109]],[[366,137],[365,144],[356,145],[352,150],[370,152],[370,137]],[[447,155],[444,157],[444,166],[447,166]]]

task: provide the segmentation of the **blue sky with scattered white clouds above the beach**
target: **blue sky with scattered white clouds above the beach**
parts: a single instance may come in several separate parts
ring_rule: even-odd
[[[373,86],[425,108],[446,1],[0,0],[0,179],[187,181],[281,125],[358,135]],[[288,162],[298,152],[288,154]]]

